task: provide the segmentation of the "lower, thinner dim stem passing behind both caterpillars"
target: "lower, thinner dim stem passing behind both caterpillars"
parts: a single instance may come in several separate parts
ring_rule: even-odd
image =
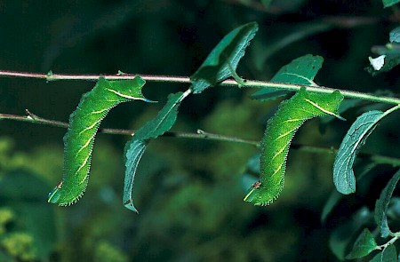
[[[9,120],[16,120],[21,122],[28,122],[28,123],[40,123],[49,126],[61,127],[61,128],[68,128],[68,123],[49,120],[45,119],[41,116],[35,115],[30,112],[28,109],[26,110],[27,115],[8,115],[8,114],[0,114],[0,120],[2,119],[9,119]],[[109,128],[100,128],[99,132],[111,135],[128,135],[132,136],[135,131],[127,130],[127,129],[109,129]],[[197,130],[196,133],[191,132],[165,132],[163,137],[172,137],[172,138],[179,138],[179,139],[206,139],[206,140],[215,140],[215,141],[225,141],[225,142],[234,142],[234,143],[242,143],[254,147],[260,147],[260,142],[257,140],[250,140],[250,139],[241,139],[231,136],[225,136],[220,134],[209,133],[202,130]],[[292,143],[292,149],[300,150],[304,152],[310,153],[317,153],[317,154],[329,154],[329,155],[336,155],[338,152],[337,148],[334,147],[316,147],[316,146],[305,146],[299,145],[296,143]],[[375,163],[381,164],[391,164],[393,166],[400,166],[400,159],[389,157],[385,155],[372,155],[367,153],[358,153],[357,157],[361,158],[370,158]]]

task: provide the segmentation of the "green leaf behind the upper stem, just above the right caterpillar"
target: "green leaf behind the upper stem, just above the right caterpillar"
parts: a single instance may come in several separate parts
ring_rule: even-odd
[[[322,57],[307,54],[296,60],[292,60],[291,63],[282,67],[271,79],[271,82],[316,85],[314,77],[316,77],[318,70],[321,69],[323,62],[324,59]],[[263,88],[260,91],[254,92],[252,98],[275,99],[287,93],[287,91],[280,91],[279,93],[275,93],[275,96],[271,96],[271,92],[274,93],[276,91],[276,89]]]

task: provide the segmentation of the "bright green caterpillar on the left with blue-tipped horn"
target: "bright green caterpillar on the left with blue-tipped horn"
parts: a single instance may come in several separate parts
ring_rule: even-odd
[[[64,136],[64,172],[57,187],[49,194],[48,202],[66,206],[84,195],[89,180],[94,137],[108,111],[122,102],[140,99],[146,82],[140,77],[132,80],[108,81],[100,77],[92,91],[82,96],[76,110],[69,116]]]

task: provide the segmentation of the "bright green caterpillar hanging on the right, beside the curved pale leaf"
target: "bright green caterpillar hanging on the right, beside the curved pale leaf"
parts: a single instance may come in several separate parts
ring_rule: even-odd
[[[278,107],[276,114],[268,120],[261,140],[260,181],[254,183],[244,201],[254,205],[268,205],[276,200],[284,187],[286,157],[295,132],[306,120],[316,116],[338,114],[343,96],[339,91],[330,94],[300,89],[292,99]]]

